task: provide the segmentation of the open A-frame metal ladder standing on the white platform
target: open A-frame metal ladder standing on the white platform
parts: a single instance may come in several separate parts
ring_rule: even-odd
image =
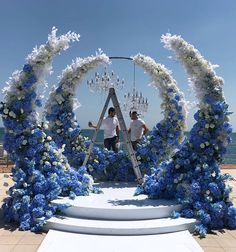
[[[105,115],[105,112],[107,110],[107,107],[108,107],[108,104],[109,104],[110,100],[112,100],[112,103],[114,105],[114,108],[115,108],[115,111],[116,111],[116,114],[117,114],[117,119],[118,119],[118,121],[120,123],[120,128],[121,128],[121,130],[123,132],[124,141],[125,141],[126,146],[127,146],[127,150],[128,150],[130,160],[132,162],[132,166],[133,166],[134,174],[136,176],[136,180],[137,180],[137,182],[139,184],[142,184],[143,183],[142,174],[141,174],[140,169],[139,169],[138,161],[136,159],[136,155],[135,155],[135,152],[134,152],[134,149],[133,149],[133,146],[132,146],[132,143],[131,143],[131,140],[130,140],[130,137],[129,137],[129,134],[128,134],[128,131],[127,131],[127,128],[126,128],[126,125],[125,125],[124,117],[122,115],[120,105],[119,105],[119,101],[117,99],[116,92],[115,92],[114,88],[109,88],[109,93],[108,93],[105,105],[103,107],[101,116],[99,118],[97,128],[96,128],[96,130],[94,132],[92,141],[90,143],[89,149],[88,149],[88,151],[86,153],[86,156],[85,156],[85,159],[84,159],[84,162],[83,162],[83,166],[85,166],[87,164],[87,162],[88,162],[89,156],[90,156],[90,154],[92,152],[92,149],[93,149],[96,137],[97,137],[97,133],[98,133],[100,127],[101,127],[102,120],[104,118],[104,115]]]

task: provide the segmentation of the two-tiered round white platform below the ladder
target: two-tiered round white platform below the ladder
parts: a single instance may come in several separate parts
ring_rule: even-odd
[[[103,183],[103,194],[68,197],[53,204],[70,204],[62,214],[47,220],[45,230],[99,235],[150,235],[189,230],[195,219],[170,218],[181,205],[169,200],[151,200],[146,195],[134,196],[135,184]]]

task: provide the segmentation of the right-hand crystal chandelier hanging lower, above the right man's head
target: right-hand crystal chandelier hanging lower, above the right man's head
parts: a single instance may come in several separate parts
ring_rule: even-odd
[[[137,111],[139,114],[143,114],[148,110],[148,99],[144,98],[142,93],[136,90],[135,86],[135,63],[134,63],[134,77],[133,77],[133,89],[124,95],[124,110],[126,112]]]

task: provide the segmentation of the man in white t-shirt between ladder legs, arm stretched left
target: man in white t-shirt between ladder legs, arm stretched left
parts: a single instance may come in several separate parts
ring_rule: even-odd
[[[114,152],[118,152],[118,145],[119,142],[119,122],[116,115],[116,111],[113,107],[108,109],[108,116],[105,117],[102,121],[102,126],[104,129],[104,147],[108,150],[113,150]],[[97,128],[96,125],[93,125],[92,122],[88,123],[89,127]]]

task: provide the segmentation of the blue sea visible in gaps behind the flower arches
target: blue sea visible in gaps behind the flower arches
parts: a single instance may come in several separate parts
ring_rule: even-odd
[[[91,139],[94,134],[93,129],[82,129],[81,133],[83,136],[88,137]],[[188,132],[186,132],[186,136],[188,136]],[[225,155],[225,158],[223,160],[224,164],[236,164],[236,133],[232,133],[232,142],[229,144],[227,148],[227,153]],[[3,143],[3,138],[4,138],[4,128],[0,127],[0,144]],[[125,150],[125,145],[123,142],[123,136],[120,136],[120,141],[121,141],[121,149]],[[95,141],[95,144],[98,146],[102,146],[103,144],[103,130],[99,130],[97,134],[97,138]]]

